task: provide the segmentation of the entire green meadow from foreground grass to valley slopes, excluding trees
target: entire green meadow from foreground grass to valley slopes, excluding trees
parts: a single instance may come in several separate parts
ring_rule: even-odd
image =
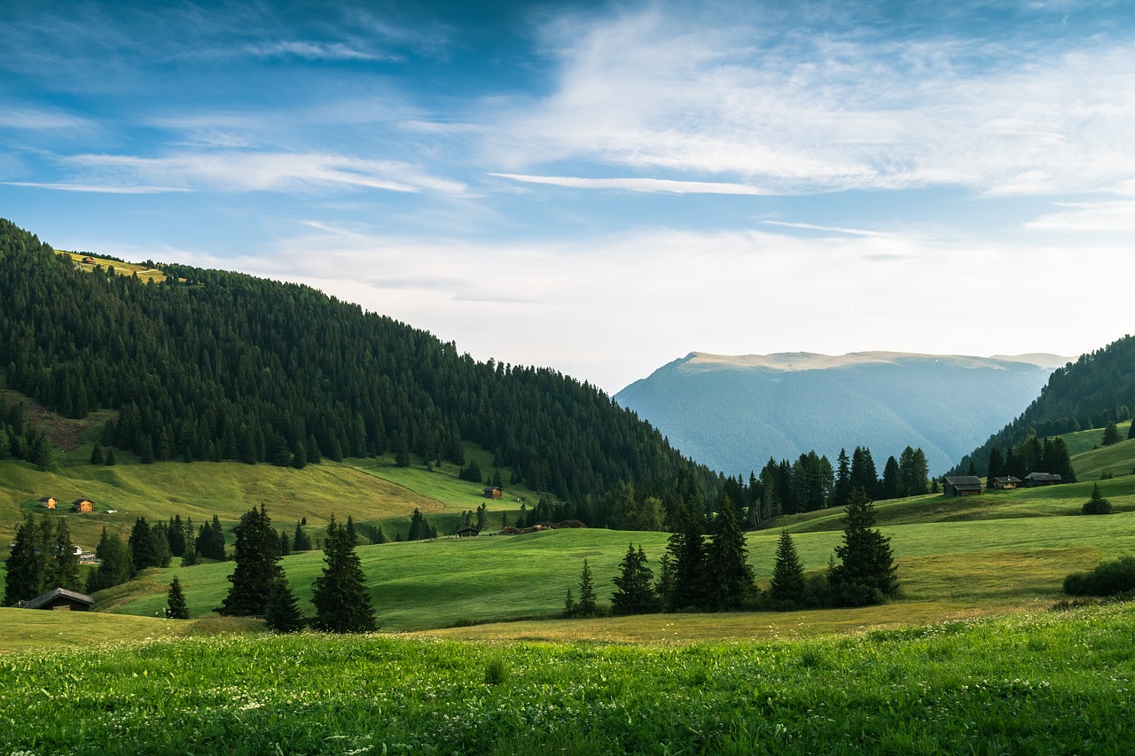
[[[661,532],[362,545],[380,632],[350,638],[217,616],[232,563],[148,570],[96,594],[94,613],[0,610],[0,753],[1125,753],[1135,607],[1053,606],[1069,572],[1135,553],[1135,442],[1088,446],[1074,464],[1071,485],[876,503],[901,596],[875,607],[556,619],[585,558],[603,604],[628,544],[657,568]],[[1113,477],[1098,480],[1103,471]],[[77,492],[102,511],[52,516],[81,534],[175,513],[217,511],[230,524],[262,502],[280,529],[306,516],[318,534],[335,512],[393,537],[415,506],[447,532],[481,503],[495,529],[536,501],[485,499],[455,468],[388,459],[53,472],[5,462],[0,476],[6,524],[44,492]],[[1095,482],[1113,514],[1079,513]],[[748,534],[758,582],[781,529],[809,572],[824,570],[840,518]],[[322,553],[281,564],[310,616]],[[175,576],[190,620],[161,618]]]

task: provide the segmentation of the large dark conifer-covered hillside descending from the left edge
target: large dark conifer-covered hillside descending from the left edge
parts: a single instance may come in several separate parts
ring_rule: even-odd
[[[716,476],[587,383],[478,362],[453,343],[306,287],[160,266],[165,283],[76,264],[0,220],[0,369],[60,414],[118,411],[103,443],[141,461],[303,464],[393,451],[560,498],[619,481],[714,501]]]

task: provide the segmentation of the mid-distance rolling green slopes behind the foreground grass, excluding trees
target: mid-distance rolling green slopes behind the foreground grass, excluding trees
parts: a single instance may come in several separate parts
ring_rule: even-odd
[[[1133,457],[1135,442],[1124,442],[1107,448],[1090,448],[1074,457],[1074,463],[1077,470],[1116,464],[1130,467],[1135,464]],[[235,463],[185,465],[171,462],[115,468],[73,464],[56,473],[44,473],[8,462],[0,465],[0,472],[8,473],[0,497],[9,497],[10,511],[15,499],[37,498],[33,494],[43,490],[44,481],[54,481],[59,487],[72,485],[75,487],[70,490],[77,492],[76,481],[85,480],[82,494],[76,496],[91,496],[90,486],[96,482],[106,486],[110,501],[125,507],[118,515],[123,527],[140,513],[160,518],[177,512],[199,521],[211,516],[212,511],[220,511],[222,519],[235,520],[247,506],[263,501],[277,527],[289,528],[300,516],[308,516],[309,522],[319,526],[323,522],[321,512],[335,511],[340,518],[353,514],[359,522],[382,522],[392,537],[409,523],[407,514],[413,506],[427,512],[435,526],[445,532],[452,528],[442,527],[443,523],[448,526],[452,521],[455,524],[461,511],[486,502],[478,486],[456,479],[455,468],[435,472],[400,469],[384,459],[356,461],[356,464],[358,469],[350,464],[322,464],[303,471]],[[202,476],[201,471],[210,474]],[[1135,477],[1101,481],[1104,496],[1117,510],[1117,514],[1108,518],[1078,514],[1092,485],[1087,481],[966,498],[926,495],[878,503],[878,524],[892,539],[905,593],[905,600],[886,611],[867,611],[863,616],[846,612],[796,613],[787,619],[765,614],[737,615],[729,623],[721,622],[720,618],[670,620],[683,628],[682,635],[691,637],[707,632],[757,637],[782,633],[789,627],[816,632],[872,621],[888,623],[903,616],[925,622],[959,613],[1051,602],[1059,596],[1060,583],[1068,572],[1090,569],[1100,558],[1135,552]],[[11,496],[10,490],[22,493]],[[184,493],[169,496],[166,492],[170,490]],[[61,499],[70,496],[65,492],[57,495]],[[98,492],[92,498],[101,502]],[[487,503],[494,526],[498,513],[519,507],[516,501]],[[0,498],[0,511],[3,505],[5,499]],[[76,523],[91,523],[90,532],[109,519],[104,514],[67,516]],[[784,521],[783,527],[793,532],[807,569],[817,571],[827,564],[840,539],[840,516],[839,511],[822,511]],[[81,529],[81,526],[73,526],[73,530],[76,527]],[[779,529],[748,537],[750,563],[759,581],[771,577],[777,537]],[[76,541],[82,543],[79,538]],[[381,627],[405,631],[555,614],[562,607],[568,588],[578,589],[585,557],[589,560],[600,600],[604,600],[613,589],[611,578],[629,541],[641,544],[651,565],[656,566],[665,548],[666,535],[556,531],[523,537],[363,546],[359,554]],[[322,569],[321,553],[289,556],[284,560],[284,566],[305,613],[312,614],[311,583]],[[232,564],[153,570],[137,581],[100,594],[96,606],[154,616],[165,606],[169,581],[178,574],[193,615],[208,616],[228,590],[226,578],[230,571]],[[628,627],[641,622],[642,638],[661,632],[656,619],[620,622],[629,623]],[[711,627],[701,628],[703,623]],[[569,632],[572,627],[585,635],[594,631],[586,622],[565,625],[529,621],[484,632],[558,637],[565,627]],[[478,629],[465,631],[474,636],[482,632]],[[632,630],[620,632],[634,635]]]

